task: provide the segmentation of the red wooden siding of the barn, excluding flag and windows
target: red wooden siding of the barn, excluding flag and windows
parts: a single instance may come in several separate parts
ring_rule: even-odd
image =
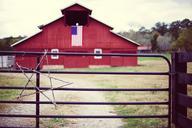
[[[86,8],[72,6],[69,10],[85,11]],[[64,21],[65,17],[63,16],[41,27],[42,31],[40,33],[15,45],[14,50],[44,51],[47,49],[48,51],[51,51],[51,49],[59,49],[60,52],[93,53],[95,48],[99,48],[102,49],[103,53],[137,52],[137,44],[117,36],[111,32],[112,28],[110,26],[107,26],[92,17],[89,17],[89,24],[83,26],[83,45],[81,47],[71,46],[71,26],[65,25]],[[34,59],[30,58],[21,60],[18,57],[16,58],[16,61],[27,67],[32,67],[35,63]],[[65,68],[82,68],[88,67],[89,65],[134,66],[137,65],[137,57],[102,57],[102,59],[94,59],[94,56],[59,56],[59,59],[56,60],[49,57],[49,64],[64,65]]]

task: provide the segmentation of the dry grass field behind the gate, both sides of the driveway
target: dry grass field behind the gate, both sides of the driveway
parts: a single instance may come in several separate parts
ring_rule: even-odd
[[[166,55],[170,58],[170,55]],[[188,65],[188,72],[192,73],[192,64]],[[67,69],[79,71],[119,71],[119,72],[165,72],[168,66],[165,61],[157,58],[139,58],[139,66],[136,67],[113,67],[113,68],[95,68],[95,69]],[[96,83],[98,87],[105,88],[167,88],[168,76],[125,76],[125,75],[65,75],[66,78],[77,77],[85,81]],[[0,75],[1,85],[22,85],[25,83],[23,77]],[[189,95],[192,95],[192,89],[189,88]],[[18,95],[16,91],[0,92],[0,99],[9,99]],[[167,101],[168,92],[107,92],[105,97],[112,102],[128,101]],[[114,109],[118,115],[158,115],[167,114],[166,105],[120,105]],[[188,111],[192,115],[191,110]],[[191,118],[191,116],[190,116]],[[124,119],[123,128],[165,128],[166,119]],[[54,123],[61,123],[55,119]]]

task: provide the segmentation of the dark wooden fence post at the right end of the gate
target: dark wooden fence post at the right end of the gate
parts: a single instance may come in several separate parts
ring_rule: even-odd
[[[180,61],[180,54],[178,52],[172,53],[172,122],[176,128],[181,128],[178,125],[178,114],[187,116],[187,108],[178,104],[177,94],[187,94],[187,85],[179,83],[179,73],[187,72],[187,63]]]

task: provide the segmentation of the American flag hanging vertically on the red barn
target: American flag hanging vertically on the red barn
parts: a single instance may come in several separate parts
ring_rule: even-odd
[[[72,46],[82,46],[82,34],[83,26],[72,26],[71,27],[71,40]]]

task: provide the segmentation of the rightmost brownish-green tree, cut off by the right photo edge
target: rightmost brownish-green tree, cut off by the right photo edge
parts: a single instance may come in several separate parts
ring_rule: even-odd
[[[192,28],[185,28],[174,41],[172,48],[180,51],[192,51]]]

